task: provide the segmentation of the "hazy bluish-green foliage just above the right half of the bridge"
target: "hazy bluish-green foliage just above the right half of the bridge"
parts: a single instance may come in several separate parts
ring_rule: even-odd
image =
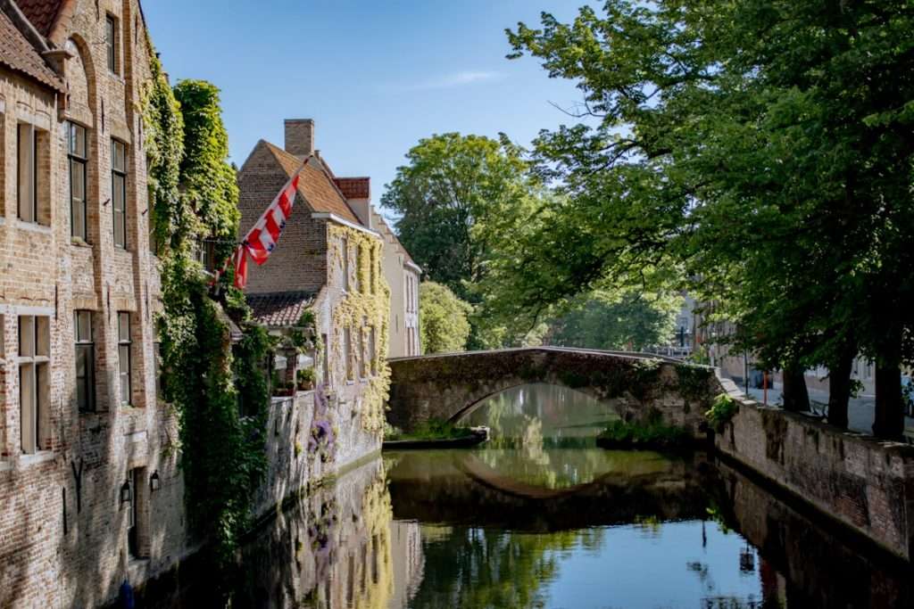
[[[597,291],[550,322],[551,344],[642,351],[673,340],[678,296]]]

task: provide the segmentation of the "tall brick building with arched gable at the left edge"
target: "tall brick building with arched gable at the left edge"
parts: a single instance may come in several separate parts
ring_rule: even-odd
[[[156,398],[149,49],[137,0],[0,0],[0,606],[102,604],[189,551]]]

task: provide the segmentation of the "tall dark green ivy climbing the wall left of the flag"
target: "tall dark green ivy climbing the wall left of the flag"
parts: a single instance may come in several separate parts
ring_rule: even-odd
[[[269,391],[261,371],[271,340],[247,323],[250,310],[232,272],[211,289],[196,259],[202,239],[228,257],[238,231],[238,188],[218,89],[184,80],[172,89],[150,45],[143,94],[152,237],[160,259],[164,310],[157,318],[165,400],[178,417],[191,529],[228,562],[250,524],[254,491],[266,472]],[[214,295],[218,294],[218,296]],[[231,327],[243,331],[233,347]],[[244,404],[245,416],[239,413]]]

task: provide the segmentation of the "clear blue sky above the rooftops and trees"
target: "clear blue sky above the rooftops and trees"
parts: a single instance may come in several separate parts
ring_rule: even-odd
[[[531,58],[505,59],[505,27],[585,0],[146,0],[165,70],[222,89],[232,160],[282,120],[311,118],[337,175],[370,175],[377,204],[409,148],[433,133],[524,145],[572,122],[550,105],[581,97]]]

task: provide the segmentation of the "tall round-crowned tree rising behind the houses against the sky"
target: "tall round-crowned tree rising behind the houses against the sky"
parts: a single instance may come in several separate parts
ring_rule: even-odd
[[[492,230],[516,217],[532,188],[505,136],[444,133],[420,140],[381,199],[401,215],[398,236],[431,281],[467,299],[484,276]]]

